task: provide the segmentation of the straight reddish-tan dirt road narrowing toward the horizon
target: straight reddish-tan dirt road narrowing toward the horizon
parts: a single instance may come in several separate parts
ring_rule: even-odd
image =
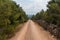
[[[10,40],[55,40],[49,32],[29,20]]]

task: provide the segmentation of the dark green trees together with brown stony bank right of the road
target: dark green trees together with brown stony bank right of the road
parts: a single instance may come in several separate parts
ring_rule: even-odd
[[[60,0],[49,1],[47,8],[46,11],[42,9],[36,15],[33,15],[31,19],[45,22],[44,24],[40,23],[40,25],[57,37],[57,40],[60,40]]]

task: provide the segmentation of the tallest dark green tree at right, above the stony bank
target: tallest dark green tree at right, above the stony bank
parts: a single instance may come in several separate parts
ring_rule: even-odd
[[[60,5],[58,2],[56,2],[56,0],[52,0],[49,2],[48,4],[48,18],[50,18],[51,23],[56,24],[56,25],[60,25],[60,23],[58,24],[58,21],[60,21]]]

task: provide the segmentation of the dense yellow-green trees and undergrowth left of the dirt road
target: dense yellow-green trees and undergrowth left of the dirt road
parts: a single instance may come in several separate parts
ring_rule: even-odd
[[[26,22],[28,17],[22,7],[12,0],[0,0],[0,40],[14,34],[16,25]]]

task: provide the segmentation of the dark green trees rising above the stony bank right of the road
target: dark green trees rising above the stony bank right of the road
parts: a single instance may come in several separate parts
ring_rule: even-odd
[[[57,25],[57,37],[60,38],[60,0],[51,0],[46,11],[42,10],[32,16],[33,20],[44,20],[49,24]],[[60,39],[59,39],[60,40]]]

